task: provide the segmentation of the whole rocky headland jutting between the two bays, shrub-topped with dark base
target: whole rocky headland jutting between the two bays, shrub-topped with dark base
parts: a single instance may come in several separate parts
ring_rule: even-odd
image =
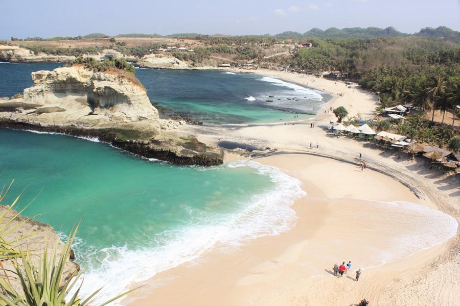
[[[222,149],[179,132],[186,121],[160,119],[132,66],[111,61],[96,67],[98,62],[89,59],[32,72],[32,87],[0,98],[0,127],[97,137],[134,154],[180,165],[223,162]]]

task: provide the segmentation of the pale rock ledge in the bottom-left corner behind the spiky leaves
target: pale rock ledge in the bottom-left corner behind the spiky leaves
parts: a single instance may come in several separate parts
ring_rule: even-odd
[[[0,205],[0,214],[3,215],[5,213],[6,215],[2,220],[2,223],[0,223],[0,226],[5,225],[6,222],[9,222],[16,215],[15,211],[8,210],[8,207]],[[24,223],[19,225],[22,222]],[[59,239],[59,236],[54,231],[54,228],[50,225],[43,224],[22,216],[18,216],[10,224],[8,224],[8,226],[11,228],[14,228],[15,226],[19,227],[17,228],[17,230],[12,231],[6,237],[4,237],[7,241],[14,241],[19,237],[28,236],[29,234],[35,233],[32,236],[20,240],[20,243],[18,243],[19,245],[16,247],[21,249],[22,251],[30,250],[31,254],[42,254],[44,252],[45,247],[48,247],[49,257],[51,257],[54,254],[55,250],[58,256],[60,256],[60,254],[62,253],[64,244]],[[20,265],[20,259],[18,259],[18,263]],[[22,292],[19,279],[17,278],[17,275],[13,272],[13,261],[3,260],[2,264],[4,268],[2,269],[2,275],[6,273],[6,275],[9,276],[8,278],[13,288],[17,292]],[[65,264],[63,279],[70,277],[75,270],[79,269],[79,265],[69,259]]]

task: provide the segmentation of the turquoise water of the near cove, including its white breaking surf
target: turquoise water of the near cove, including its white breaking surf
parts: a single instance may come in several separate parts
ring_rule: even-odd
[[[299,183],[255,162],[180,167],[140,159],[105,143],[0,129],[0,182],[15,180],[5,203],[24,191],[27,216],[68,233],[88,291],[193,260],[218,243],[274,235],[295,221]],[[107,294],[110,294],[108,292]]]

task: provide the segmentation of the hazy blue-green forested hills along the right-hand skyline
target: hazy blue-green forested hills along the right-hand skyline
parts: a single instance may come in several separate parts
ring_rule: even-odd
[[[408,36],[408,35],[417,35],[417,36],[428,36],[428,37],[444,37],[445,39],[458,39],[460,40],[460,32],[453,31],[447,27],[438,27],[438,28],[424,28],[420,32],[415,34],[406,34],[399,32],[393,27],[388,27],[385,29],[369,27],[369,28],[329,28],[327,30],[321,30],[318,28],[313,28],[310,31],[305,33],[286,31],[275,36],[285,37],[285,38],[374,38],[381,36]]]

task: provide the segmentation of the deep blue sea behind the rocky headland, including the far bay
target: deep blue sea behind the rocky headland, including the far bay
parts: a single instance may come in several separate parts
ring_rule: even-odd
[[[30,74],[59,63],[0,63],[0,97],[33,85]],[[136,69],[152,101],[205,124],[274,123],[312,118],[329,95],[252,73]],[[269,97],[274,96],[274,97]],[[267,102],[271,100],[272,102]],[[294,118],[296,116],[297,118]]]

